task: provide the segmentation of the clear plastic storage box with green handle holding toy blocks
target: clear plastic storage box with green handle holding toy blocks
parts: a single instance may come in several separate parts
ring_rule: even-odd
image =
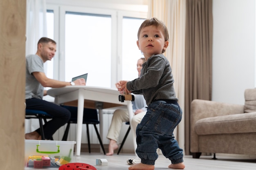
[[[70,163],[74,144],[76,141],[25,140],[25,167],[59,168]]]

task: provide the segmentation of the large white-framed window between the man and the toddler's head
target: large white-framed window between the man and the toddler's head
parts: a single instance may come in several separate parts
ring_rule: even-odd
[[[54,29],[58,55],[50,66],[55,79],[69,82],[88,73],[87,86],[115,88],[118,80],[138,77],[136,64],[143,55],[137,31],[147,13],[61,5],[58,10],[54,23],[47,18],[47,26],[60,28]],[[48,13],[53,18],[55,12]]]

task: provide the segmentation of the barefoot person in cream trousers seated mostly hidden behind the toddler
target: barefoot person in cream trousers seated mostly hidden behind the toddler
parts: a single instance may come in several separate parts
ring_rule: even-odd
[[[140,77],[140,71],[142,68],[142,64],[145,62],[145,58],[140,58],[137,62],[137,71]],[[119,87],[119,82],[116,84]],[[143,95],[134,95],[135,101],[132,102],[133,113],[135,114],[132,117],[132,122],[130,125],[136,130],[137,124],[140,123],[141,119],[146,114],[147,105]],[[129,121],[129,113],[127,109],[117,109],[115,110],[112,121],[110,124],[110,128],[108,130],[107,138],[110,139],[108,145],[108,153],[106,155],[113,155],[114,150],[118,148],[117,138],[119,137],[120,130],[123,122]],[[134,132],[135,133],[135,132]]]

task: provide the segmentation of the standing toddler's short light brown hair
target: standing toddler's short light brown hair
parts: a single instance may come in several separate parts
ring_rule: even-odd
[[[167,27],[165,26],[164,22],[162,22],[161,20],[153,17],[153,18],[149,18],[147,20],[145,20],[144,22],[142,22],[141,26],[139,27],[139,30],[138,30],[138,40],[139,40],[139,34],[140,34],[140,31],[141,29],[143,29],[144,27],[146,26],[156,26],[156,27],[160,27],[164,33],[164,40],[165,41],[168,41],[169,40],[169,33],[168,33],[168,29]],[[165,50],[162,51],[162,53],[164,53]]]

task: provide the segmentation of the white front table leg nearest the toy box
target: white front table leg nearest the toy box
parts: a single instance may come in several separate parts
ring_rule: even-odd
[[[81,154],[83,107],[84,107],[83,89],[79,89],[78,104],[77,104],[76,156],[80,156]]]

